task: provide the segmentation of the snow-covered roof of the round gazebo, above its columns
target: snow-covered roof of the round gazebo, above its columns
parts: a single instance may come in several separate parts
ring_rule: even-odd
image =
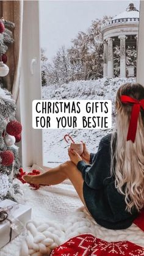
[[[129,4],[124,12],[121,12],[117,16],[112,18],[113,20],[119,20],[123,18],[139,18],[139,10],[134,7],[134,4]]]

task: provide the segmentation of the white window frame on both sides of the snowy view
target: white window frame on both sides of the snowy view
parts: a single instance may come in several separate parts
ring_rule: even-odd
[[[40,13],[38,1],[24,1],[23,42],[20,84],[20,119],[23,125],[21,155],[23,167],[43,166],[43,130],[32,128],[32,101],[41,99]],[[144,1],[140,1],[140,22],[137,52],[137,82],[144,84]],[[31,38],[31,40],[29,40]],[[31,74],[32,59],[34,75]],[[51,166],[49,164],[49,166]]]

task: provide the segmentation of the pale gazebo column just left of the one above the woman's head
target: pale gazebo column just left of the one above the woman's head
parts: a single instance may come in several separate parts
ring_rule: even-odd
[[[113,77],[113,39],[107,38],[107,76]]]

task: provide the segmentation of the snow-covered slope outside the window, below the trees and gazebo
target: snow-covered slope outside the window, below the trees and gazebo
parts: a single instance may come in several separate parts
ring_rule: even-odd
[[[135,78],[102,78],[93,81],[74,81],[62,86],[42,87],[45,100],[112,100],[112,126],[114,125],[115,95],[117,89],[126,82],[135,82]],[[90,152],[96,152],[101,137],[110,130],[43,130],[43,159],[48,162],[61,163],[68,160],[68,144],[63,140],[70,134],[74,141],[84,141]]]

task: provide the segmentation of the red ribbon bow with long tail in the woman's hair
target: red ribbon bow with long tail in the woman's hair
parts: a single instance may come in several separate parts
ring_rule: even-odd
[[[121,95],[120,100],[124,104],[132,103],[132,111],[131,111],[131,119],[129,122],[129,130],[127,141],[131,140],[133,143],[135,141],[135,135],[137,132],[137,121],[140,113],[140,107],[144,110],[144,99],[143,100],[135,100],[127,95]]]

